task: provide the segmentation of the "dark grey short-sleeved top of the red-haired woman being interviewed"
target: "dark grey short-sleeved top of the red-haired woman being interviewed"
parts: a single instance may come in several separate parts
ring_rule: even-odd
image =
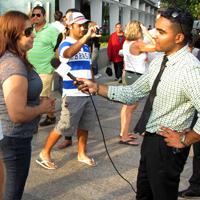
[[[6,51],[0,58],[0,116],[3,135],[18,138],[32,137],[39,123],[40,116],[37,116],[29,122],[14,123],[8,114],[2,84],[12,75],[21,75],[28,80],[27,106],[33,107],[39,105],[39,95],[42,91],[42,81],[38,74],[35,71],[30,74],[19,58],[11,52]]]

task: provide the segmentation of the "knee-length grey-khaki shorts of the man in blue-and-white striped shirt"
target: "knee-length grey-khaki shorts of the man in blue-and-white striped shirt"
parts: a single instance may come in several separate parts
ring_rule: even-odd
[[[97,97],[92,96],[96,105]],[[68,106],[65,107],[65,102]],[[91,98],[87,97],[63,97],[60,120],[54,130],[60,134],[70,137],[77,128],[93,131],[95,128],[96,114]]]

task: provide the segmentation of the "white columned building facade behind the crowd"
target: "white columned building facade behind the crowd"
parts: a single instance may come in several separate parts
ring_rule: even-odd
[[[116,23],[120,22],[125,28],[131,20],[139,20],[146,27],[154,27],[158,0],[59,0],[59,10],[64,14],[69,8],[77,8],[84,13],[80,8],[86,2],[90,5],[90,20],[100,26],[105,25],[103,8],[107,7],[110,34],[115,32]]]

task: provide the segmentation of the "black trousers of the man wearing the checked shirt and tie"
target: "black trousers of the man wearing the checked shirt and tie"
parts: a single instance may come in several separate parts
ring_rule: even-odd
[[[180,173],[190,148],[174,154],[164,137],[144,136],[137,177],[137,200],[177,200]]]

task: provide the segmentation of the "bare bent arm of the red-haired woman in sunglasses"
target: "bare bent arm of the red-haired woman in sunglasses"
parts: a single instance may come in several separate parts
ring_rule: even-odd
[[[55,113],[55,100],[44,98],[38,106],[27,106],[27,78],[12,75],[3,83],[3,93],[8,114],[13,122],[28,122],[40,114]]]

